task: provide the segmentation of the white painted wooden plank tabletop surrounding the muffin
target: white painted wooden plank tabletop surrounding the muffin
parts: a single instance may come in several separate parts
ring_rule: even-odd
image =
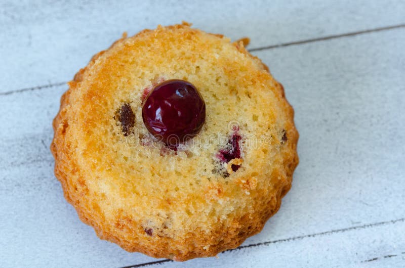
[[[269,65],[300,164],[264,230],[218,258],[128,253],[78,219],[53,174],[66,81],[123,31],[182,20]],[[0,2],[1,267],[404,267],[404,1]],[[156,262],[157,261],[157,262]]]

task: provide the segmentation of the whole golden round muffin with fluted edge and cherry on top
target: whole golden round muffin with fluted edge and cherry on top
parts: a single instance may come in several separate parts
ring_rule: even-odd
[[[55,175],[101,239],[215,256],[279,209],[298,164],[294,111],[244,41],[158,26],[124,34],[68,82]]]

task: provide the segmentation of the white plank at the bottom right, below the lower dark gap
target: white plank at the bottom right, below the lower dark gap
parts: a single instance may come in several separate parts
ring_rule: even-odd
[[[165,261],[147,267],[401,267],[405,220],[269,241],[226,251],[218,259]],[[376,236],[378,233],[378,236]],[[383,238],[383,239],[382,239]],[[373,245],[367,247],[365,245]],[[256,257],[252,257],[252,256]],[[141,266],[141,267],[142,267]],[[139,267],[139,266],[138,266]]]

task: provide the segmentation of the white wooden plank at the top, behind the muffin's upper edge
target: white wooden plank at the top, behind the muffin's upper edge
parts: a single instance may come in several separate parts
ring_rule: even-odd
[[[405,2],[106,1],[0,3],[0,92],[70,80],[124,31],[186,20],[251,48],[405,23]]]

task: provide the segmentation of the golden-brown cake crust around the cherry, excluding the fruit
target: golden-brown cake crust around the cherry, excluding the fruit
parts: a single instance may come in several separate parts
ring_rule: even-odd
[[[187,51],[183,51],[183,47],[173,49],[176,39],[193,41],[187,41]],[[167,46],[169,40],[173,42],[171,46]],[[177,70],[176,62],[160,61],[157,55],[155,65],[147,65],[142,56],[150,53],[148,44],[151,42],[152,51],[164,52],[164,57],[177,57],[186,72]],[[210,54],[210,58],[200,62],[200,57],[206,54]],[[138,56],[136,62],[130,61],[133,55]],[[234,58],[235,61],[228,64]],[[239,65],[239,61],[243,62]],[[188,62],[190,66],[186,66]],[[159,154],[158,149],[147,146],[128,148],[128,140],[119,136],[119,123],[111,122],[119,103],[131,100],[133,109],[139,107],[145,87],[140,85],[147,86],[147,83],[143,76],[131,75],[140,65],[144,66],[144,76],[149,75],[149,81],[156,79],[156,75],[166,79],[172,78],[170,75],[186,76],[178,78],[187,78],[197,85],[211,113],[221,109],[216,106],[218,102],[233,103],[234,99],[227,97],[229,94],[232,97],[233,92],[237,96],[245,94],[240,97],[244,99],[238,100],[245,106],[250,105],[245,99],[257,101],[254,106],[259,108],[252,106],[238,119],[254,125],[241,125],[245,127],[242,130],[246,137],[252,128],[271,137],[269,144],[253,149],[246,147],[242,168],[228,178],[199,169],[212,165],[211,156],[218,150],[218,144],[210,144],[207,152],[194,151],[191,157],[181,152],[161,156],[161,150]],[[195,76],[191,73],[197,65],[199,75]],[[158,66],[158,70],[152,71],[148,68],[153,67],[149,66]],[[222,83],[217,81],[221,84],[218,90],[205,90],[204,81],[212,74],[202,72],[208,72],[208,67],[222,72],[223,77],[217,78],[223,80]],[[170,72],[173,68],[177,70],[175,74]],[[231,84],[232,81],[237,84]],[[131,252],[178,261],[215,256],[236,248],[246,238],[260,232],[291,188],[298,164],[294,110],[285,98],[282,85],[271,77],[266,65],[245,49],[243,40],[231,44],[221,35],[191,29],[186,23],[159,26],[130,38],[124,35],[108,50],[96,54],[68,84],[69,90],[62,96],[59,113],[53,121],[55,136],[51,151],[55,157],[55,175],[66,200],[101,239]],[[121,88],[119,94],[116,88]],[[135,95],[134,88],[138,88]],[[233,120],[229,114],[237,114],[238,110],[207,118],[201,137],[226,131],[217,124]],[[253,114],[258,116],[257,122],[251,121],[251,113],[258,111],[261,114]],[[142,123],[136,128],[144,130]],[[145,157],[153,161],[149,163]],[[179,160],[176,170],[161,170],[163,163],[168,165],[173,159]]]

